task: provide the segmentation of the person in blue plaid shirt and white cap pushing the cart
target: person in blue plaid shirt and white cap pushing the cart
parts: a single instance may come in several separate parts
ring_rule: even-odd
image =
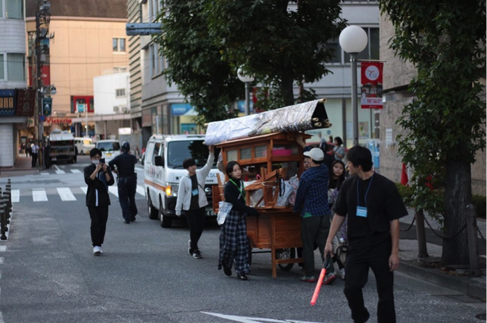
[[[301,213],[301,239],[303,240],[303,263],[305,275],[301,281],[312,283],[314,279],[314,244],[316,243],[321,254],[321,260],[325,260],[324,249],[328,231],[330,231],[330,207],[328,206],[328,167],[324,165],[324,152],[319,148],[313,148],[304,152],[308,158],[310,169],[301,174],[296,202],[293,211]],[[333,273],[333,261],[326,267],[324,285],[335,281]]]

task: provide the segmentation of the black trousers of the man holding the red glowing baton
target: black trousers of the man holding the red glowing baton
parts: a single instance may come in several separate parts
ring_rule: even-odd
[[[344,294],[349,301],[354,322],[365,322],[368,317],[364,305],[362,288],[367,283],[369,268],[374,272],[377,282],[377,322],[395,323],[396,310],[394,308],[394,274],[389,270],[389,257],[392,251],[392,241],[387,240],[371,247],[353,248],[346,254],[345,289]]]

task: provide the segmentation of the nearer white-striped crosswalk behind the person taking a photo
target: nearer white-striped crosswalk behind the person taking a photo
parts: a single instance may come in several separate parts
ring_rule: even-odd
[[[49,199],[61,199],[61,201],[77,201],[85,199],[87,186],[74,188],[30,188],[25,190],[12,190],[12,203],[22,201],[47,202]],[[109,193],[118,197],[116,185],[109,186]],[[137,185],[136,199],[145,197],[144,188]]]

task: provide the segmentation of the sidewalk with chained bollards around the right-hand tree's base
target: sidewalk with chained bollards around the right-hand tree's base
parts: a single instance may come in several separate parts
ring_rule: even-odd
[[[411,222],[414,218],[414,210],[409,210],[410,215],[403,217],[401,223],[401,235],[399,241],[399,258],[401,258],[401,265],[399,272],[408,274],[417,279],[434,283],[444,288],[456,290],[470,297],[478,299],[487,299],[487,245],[484,240],[479,237],[479,259],[481,264],[481,271],[483,276],[479,278],[469,277],[468,269],[457,268],[456,270],[440,270],[434,265],[440,260],[442,253],[442,232],[436,231],[436,235],[425,224],[426,228],[426,248],[429,254],[428,258],[417,258],[418,246],[416,237],[416,226],[413,225],[408,231]],[[426,220],[431,224],[433,229],[438,229],[439,225],[431,218]],[[484,237],[487,237],[487,222],[485,220],[477,219],[477,226]],[[452,264],[456,265],[456,264]],[[429,267],[428,267],[429,266]]]

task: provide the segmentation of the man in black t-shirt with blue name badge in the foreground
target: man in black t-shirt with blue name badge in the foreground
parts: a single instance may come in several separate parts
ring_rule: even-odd
[[[399,267],[399,218],[408,215],[395,184],[372,171],[369,149],[356,146],[346,154],[350,177],[335,202],[325,251],[333,254],[332,240],[348,215],[344,294],[353,322],[369,320],[362,288],[369,268],[377,281],[377,322],[395,323],[394,270]]]

